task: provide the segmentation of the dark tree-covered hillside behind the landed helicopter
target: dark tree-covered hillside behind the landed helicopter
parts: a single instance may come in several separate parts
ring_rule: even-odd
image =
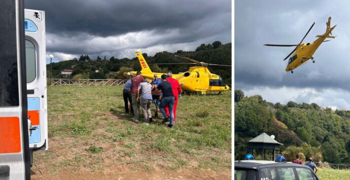
[[[191,63],[190,61],[180,59],[179,57],[189,57],[198,61],[203,61],[213,64],[226,64],[231,65],[231,43],[222,45],[221,42],[216,41],[213,44],[202,44],[195,51],[183,51],[177,52],[158,52],[154,56],[148,56],[147,52],[144,52],[148,64],[153,63]],[[102,56],[101,56],[102,57]],[[152,71],[160,71],[166,73],[171,70],[173,73],[185,72],[191,65],[151,65]],[[96,59],[91,59],[89,55],[81,55],[79,58],[71,60],[64,60],[56,63],[52,63],[52,75],[53,78],[62,78],[60,72],[62,69],[73,69],[72,76],[81,75],[84,78],[90,79],[108,79],[118,78],[123,79],[122,74],[110,75],[121,70],[121,67],[128,67],[129,70],[141,70],[136,58],[123,58],[118,59],[114,56],[103,59],[99,56]],[[47,65],[48,77],[50,77],[50,64]],[[98,70],[98,72],[96,72]],[[220,75],[227,84],[231,84],[231,67],[224,66],[209,66],[209,70],[212,73]],[[116,77],[117,76],[117,77]],[[71,77],[72,78],[72,77]]]

